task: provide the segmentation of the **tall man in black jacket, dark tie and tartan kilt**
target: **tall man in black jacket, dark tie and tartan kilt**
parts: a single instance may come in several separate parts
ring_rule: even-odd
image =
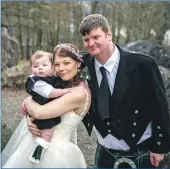
[[[97,134],[95,167],[157,167],[170,149],[170,119],[155,59],[115,45],[100,14],[85,17],[79,30],[91,73],[92,105],[84,124]]]

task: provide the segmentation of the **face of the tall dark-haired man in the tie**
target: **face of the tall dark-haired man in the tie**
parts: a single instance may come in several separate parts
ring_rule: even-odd
[[[108,49],[110,41],[112,41],[110,31],[106,33],[100,27],[83,36],[84,48],[94,57],[104,53]]]

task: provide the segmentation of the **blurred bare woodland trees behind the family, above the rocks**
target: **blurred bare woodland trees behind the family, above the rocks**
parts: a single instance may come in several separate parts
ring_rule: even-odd
[[[7,29],[15,50],[8,66],[29,60],[38,49],[52,51],[62,42],[83,50],[79,24],[91,13],[108,19],[116,44],[146,40],[170,49],[170,2],[11,1],[1,5],[2,31]],[[4,43],[2,39],[3,49],[7,48]]]

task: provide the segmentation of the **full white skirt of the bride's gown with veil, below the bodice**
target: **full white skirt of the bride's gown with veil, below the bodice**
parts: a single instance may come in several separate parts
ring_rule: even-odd
[[[29,160],[37,144],[30,133],[20,143],[3,168],[86,168],[84,156],[79,147],[71,142],[55,142],[43,151],[39,164]]]

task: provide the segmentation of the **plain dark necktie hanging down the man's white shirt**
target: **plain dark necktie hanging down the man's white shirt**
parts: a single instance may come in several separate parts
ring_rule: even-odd
[[[111,93],[107,82],[106,69],[104,67],[100,67],[100,71],[103,78],[98,93],[98,112],[101,118],[105,119],[109,116],[109,100]]]

